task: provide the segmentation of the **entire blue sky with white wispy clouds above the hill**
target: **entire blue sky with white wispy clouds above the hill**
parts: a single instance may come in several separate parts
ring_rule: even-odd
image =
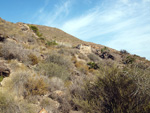
[[[0,17],[56,27],[150,60],[150,0],[0,0]]]

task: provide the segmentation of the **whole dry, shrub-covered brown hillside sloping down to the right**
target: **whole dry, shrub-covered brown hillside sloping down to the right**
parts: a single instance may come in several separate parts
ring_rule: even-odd
[[[0,113],[150,112],[150,61],[57,28],[0,18],[0,72]]]

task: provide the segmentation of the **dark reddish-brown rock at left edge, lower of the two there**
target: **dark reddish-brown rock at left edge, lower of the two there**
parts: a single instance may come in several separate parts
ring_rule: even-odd
[[[0,76],[8,77],[10,75],[10,69],[3,62],[0,62]]]

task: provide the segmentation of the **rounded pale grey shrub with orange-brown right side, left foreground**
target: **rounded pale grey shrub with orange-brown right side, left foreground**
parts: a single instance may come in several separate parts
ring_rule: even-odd
[[[23,71],[13,73],[10,81],[6,83],[6,87],[14,92],[18,97],[44,95],[48,91],[48,84],[42,76],[33,75],[31,72]]]

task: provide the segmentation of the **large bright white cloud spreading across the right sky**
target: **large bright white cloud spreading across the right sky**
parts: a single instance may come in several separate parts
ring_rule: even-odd
[[[66,21],[62,29],[80,39],[127,49],[150,59],[149,0],[120,0],[109,5],[106,9],[96,6],[94,11]]]

